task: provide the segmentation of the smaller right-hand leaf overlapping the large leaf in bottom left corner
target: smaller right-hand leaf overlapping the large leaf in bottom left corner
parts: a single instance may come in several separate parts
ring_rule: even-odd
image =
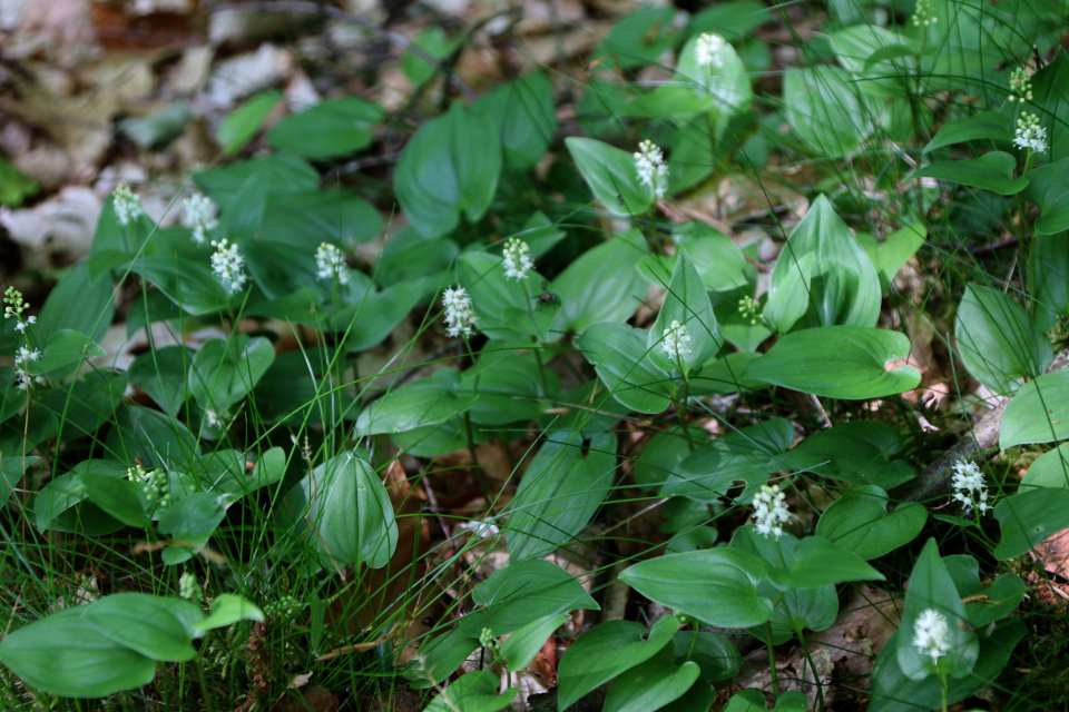
[[[202,617],[200,610],[182,599],[145,593],[117,593],[82,609],[81,617],[119,645],[160,662],[193,660],[193,632],[185,621]]]

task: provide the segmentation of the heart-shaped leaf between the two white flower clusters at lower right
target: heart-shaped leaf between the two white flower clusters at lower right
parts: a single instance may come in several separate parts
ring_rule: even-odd
[[[816,535],[872,561],[912,542],[924,528],[928,510],[906,502],[887,514],[887,493],[874,485],[849,490],[821,515]]]

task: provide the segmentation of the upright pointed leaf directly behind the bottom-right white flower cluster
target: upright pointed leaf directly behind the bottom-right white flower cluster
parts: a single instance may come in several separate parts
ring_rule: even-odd
[[[965,606],[933,538],[928,540],[913,566],[900,630],[912,635],[918,619],[929,610],[934,610],[947,622],[948,653],[932,662],[931,656],[915,645],[899,645],[899,668],[910,680],[923,680],[936,670],[951,678],[964,678],[977,663],[980,643],[975,633],[965,630],[968,626],[959,625],[965,621]]]

